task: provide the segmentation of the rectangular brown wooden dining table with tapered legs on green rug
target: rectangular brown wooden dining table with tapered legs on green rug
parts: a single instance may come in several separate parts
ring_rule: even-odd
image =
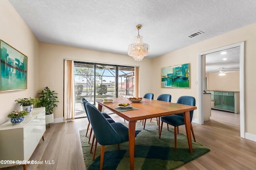
[[[135,147],[135,125],[136,121],[143,119],[150,119],[153,117],[161,117],[166,115],[173,115],[177,113],[184,113],[184,121],[186,127],[186,134],[188,139],[189,151],[192,153],[192,139],[190,132],[190,114],[189,111],[195,110],[196,106],[188,106],[184,104],[176,104],[171,102],[164,102],[161,100],[150,100],[143,98],[141,102],[130,102],[127,98],[113,98],[113,102],[104,103],[103,100],[96,100],[98,109],[102,111],[102,107],[113,111],[118,116],[127,120],[129,128],[129,152],[130,152],[130,169],[134,170],[134,147]],[[119,111],[116,109],[118,104],[130,103],[131,107],[136,110]],[[160,119],[158,119],[158,131],[160,130]],[[159,139],[160,140],[160,139]]]

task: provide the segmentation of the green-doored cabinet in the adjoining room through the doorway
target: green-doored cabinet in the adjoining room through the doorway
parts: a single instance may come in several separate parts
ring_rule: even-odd
[[[239,113],[239,92],[210,91],[214,109]]]

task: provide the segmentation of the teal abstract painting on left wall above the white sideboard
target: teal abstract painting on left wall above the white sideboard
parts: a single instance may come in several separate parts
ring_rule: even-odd
[[[0,40],[0,91],[27,88],[28,57]]]

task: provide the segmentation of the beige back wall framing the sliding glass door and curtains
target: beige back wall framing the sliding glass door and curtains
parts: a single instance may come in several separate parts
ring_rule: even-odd
[[[145,93],[151,92],[151,59],[143,59],[138,62],[134,61],[134,59],[128,55],[105,53],[101,51],[40,42],[40,88],[48,86],[50,89],[58,93],[57,96],[60,101],[60,103],[58,103],[58,107],[54,108],[54,118],[63,117],[64,59],[139,66],[139,94],[140,96],[143,96]],[[54,82],[53,86],[50,86],[50,81]]]

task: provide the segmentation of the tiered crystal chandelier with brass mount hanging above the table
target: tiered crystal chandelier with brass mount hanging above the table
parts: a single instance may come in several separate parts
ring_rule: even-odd
[[[136,25],[138,29],[138,35],[134,37],[134,43],[128,46],[128,55],[134,58],[136,61],[142,61],[142,59],[149,53],[149,45],[142,43],[142,36],[140,36],[139,30],[141,25]]]

